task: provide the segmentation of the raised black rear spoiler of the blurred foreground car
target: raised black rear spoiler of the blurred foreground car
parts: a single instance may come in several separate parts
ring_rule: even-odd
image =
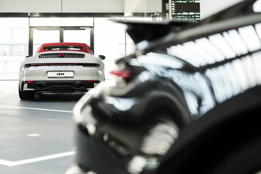
[[[185,21],[133,21],[133,20],[112,20],[127,25],[126,32],[135,44],[140,41],[152,41],[165,36],[169,32],[180,32],[182,26],[192,22]]]

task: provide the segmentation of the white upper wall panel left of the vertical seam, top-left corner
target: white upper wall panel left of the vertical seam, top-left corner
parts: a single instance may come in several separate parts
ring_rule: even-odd
[[[0,0],[0,12],[60,13],[61,0]]]

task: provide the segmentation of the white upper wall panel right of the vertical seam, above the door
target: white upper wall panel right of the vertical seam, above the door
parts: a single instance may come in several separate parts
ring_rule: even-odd
[[[63,0],[63,13],[123,13],[123,0]]]

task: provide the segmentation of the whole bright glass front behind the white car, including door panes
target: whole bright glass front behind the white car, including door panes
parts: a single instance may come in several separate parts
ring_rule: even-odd
[[[0,18],[0,80],[19,79],[19,66],[25,56],[29,55],[29,27],[50,26],[94,26],[94,54],[106,56],[105,78],[111,78],[109,72],[115,68],[115,60],[134,52],[135,45],[125,32],[125,25],[110,19],[115,18]],[[42,42],[59,42],[59,32],[59,30],[34,30],[33,52]],[[76,31],[64,30],[65,42],[75,41],[76,35],[73,32]],[[87,32],[87,35],[90,35],[88,29],[77,30],[77,32]],[[85,37],[81,37],[83,38]],[[90,39],[84,43],[87,42],[89,43]]]

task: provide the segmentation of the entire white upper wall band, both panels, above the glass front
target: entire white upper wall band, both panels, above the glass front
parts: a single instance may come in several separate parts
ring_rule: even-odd
[[[123,13],[124,0],[0,0],[0,13]]]

